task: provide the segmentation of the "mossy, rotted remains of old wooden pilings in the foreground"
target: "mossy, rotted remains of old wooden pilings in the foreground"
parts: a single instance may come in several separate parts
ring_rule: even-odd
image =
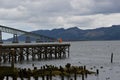
[[[68,70],[69,68],[69,70]],[[30,80],[30,77],[33,77],[34,80],[38,80],[38,77],[42,77],[42,80],[52,80],[52,76],[57,75],[61,76],[61,80],[64,80],[64,77],[66,76],[68,80],[77,80],[77,75],[82,76],[82,80],[84,80],[84,68],[83,66],[81,68],[77,66],[70,66],[70,64],[66,64],[66,66],[63,67],[56,67],[53,65],[45,65],[42,66],[41,69],[37,69],[37,67],[34,67],[33,70],[31,69],[17,69],[17,68],[11,68],[11,67],[1,67],[0,71],[2,72],[0,74],[0,80],[3,80],[7,75],[11,75],[10,77],[13,78],[13,80],[17,80],[19,77],[21,80],[24,80],[24,78],[27,78]],[[98,73],[98,72],[97,72]],[[74,77],[72,77],[72,75]],[[88,71],[87,74],[95,74],[94,72]],[[72,78],[71,78],[72,77]]]

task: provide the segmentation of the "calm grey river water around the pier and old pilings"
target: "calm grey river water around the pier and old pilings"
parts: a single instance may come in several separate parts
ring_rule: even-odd
[[[88,70],[96,71],[99,75],[89,75],[85,80],[119,80],[120,79],[120,41],[78,41],[70,43],[70,57],[58,60],[25,61],[15,64],[20,68],[33,68],[33,65],[40,67],[45,64],[64,66],[66,63],[72,65],[86,65]],[[111,53],[113,53],[113,63],[111,63]],[[1,64],[7,65],[10,64]],[[78,76],[78,80],[82,80]],[[18,79],[19,80],[19,79]],[[25,79],[27,80],[27,79]],[[34,80],[34,79],[33,79]],[[41,79],[39,79],[41,80]],[[60,80],[54,77],[53,80]]]

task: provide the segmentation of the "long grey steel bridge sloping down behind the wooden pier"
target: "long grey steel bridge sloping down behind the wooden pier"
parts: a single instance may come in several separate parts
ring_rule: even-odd
[[[7,27],[7,26],[0,25],[0,43],[3,43],[2,32],[13,34],[13,41],[12,41],[13,43],[18,43],[19,42],[18,41],[18,35],[26,36],[26,39],[25,39],[26,43],[31,42],[30,38],[36,39],[36,42],[56,41],[56,39],[48,37],[48,36],[44,36],[44,35],[40,35],[40,34],[27,32],[27,31],[23,31],[23,30],[19,30],[19,29],[10,28],[10,27]]]

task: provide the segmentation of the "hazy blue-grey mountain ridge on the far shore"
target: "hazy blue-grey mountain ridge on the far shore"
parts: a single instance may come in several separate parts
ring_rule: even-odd
[[[32,32],[56,39],[62,38],[64,41],[120,40],[120,25],[86,30],[71,27],[68,29],[59,28],[52,30],[36,30]],[[22,36],[19,36],[18,39],[23,41]]]

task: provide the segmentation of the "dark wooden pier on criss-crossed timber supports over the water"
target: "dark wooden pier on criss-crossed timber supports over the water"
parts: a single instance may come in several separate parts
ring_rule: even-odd
[[[69,57],[70,44],[65,43],[15,43],[0,45],[0,62],[24,60],[62,59]]]

